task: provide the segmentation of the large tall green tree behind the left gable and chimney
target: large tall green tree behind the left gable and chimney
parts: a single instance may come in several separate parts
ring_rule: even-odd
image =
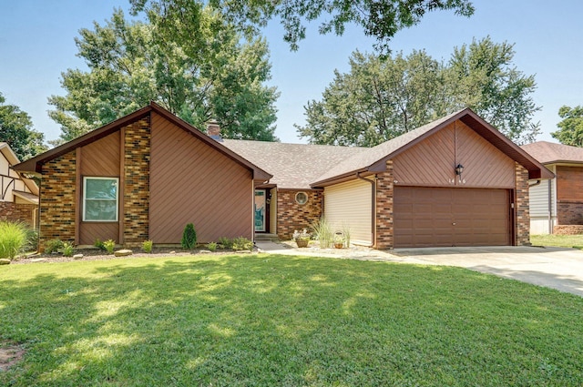
[[[177,21],[179,23],[179,21]],[[263,39],[240,43],[233,28],[209,7],[201,9],[198,35],[183,48],[151,24],[130,23],[118,10],[107,25],[82,29],[78,54],[89,71],[62,74],[66,96],[52,96],[49,112],[61,125],[55,145],[78,137],[150,100],[195,127],[215,118],[225,137],[277,140],[275,87]]]

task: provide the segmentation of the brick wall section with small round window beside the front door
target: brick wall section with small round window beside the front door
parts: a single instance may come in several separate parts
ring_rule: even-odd
[[[306,204],[295,202],[295,194],[305,192]],[[322,217],[322,191],[278,190],[277,192],[277,235],[280,239],[292,239],[295,229],[310,229],[312,223]]]

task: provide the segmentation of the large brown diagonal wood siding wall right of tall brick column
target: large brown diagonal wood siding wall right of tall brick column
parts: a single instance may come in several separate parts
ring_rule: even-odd
[[[251,171],[157,114],[151,135],[150,239],[179,243],[190,222],[200,242],[252,239]]]

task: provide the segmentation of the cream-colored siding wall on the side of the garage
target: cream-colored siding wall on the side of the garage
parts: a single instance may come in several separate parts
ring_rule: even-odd
[[[332,231],[342,230],[343,224],[351,231],[351,241],[372,245],[371,184],[353,180],[324,188],[324,216],[332,224]]]

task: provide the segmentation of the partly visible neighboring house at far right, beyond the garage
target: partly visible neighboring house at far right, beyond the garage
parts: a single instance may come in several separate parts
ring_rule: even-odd
[[[531,232],[549,234],[558,225],[583,225],[583,148],[547,141],[521,148],[556,175],[531,183]]]

